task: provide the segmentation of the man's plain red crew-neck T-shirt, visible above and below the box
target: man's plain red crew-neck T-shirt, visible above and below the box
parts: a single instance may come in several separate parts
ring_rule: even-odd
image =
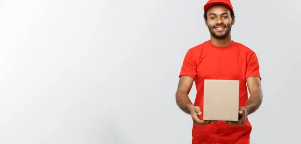
[[[248,99],[246,79],[260,78],[258,59],[254,51],[245,45],[232,41],[225,47],[214,46],[210,40],[190,48],[184,58],[180,76],[194,79],[197,94],[194,105],[203,109],[204,79],[240,80],[239,106]],[[200,116],[203,119],[203,115]],[[249,143],[252,126],[247,119],[243,126],[233,126],[217,121],[206,126],[193,124],[192,143]]]

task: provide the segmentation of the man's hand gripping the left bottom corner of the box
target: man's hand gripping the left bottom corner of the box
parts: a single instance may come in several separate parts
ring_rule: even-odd
[[[199,106],[194,106],[194,105],[191,106],[190,111],[191,111],[192,120],[197,125],[205,126],[214,122],[214,121],[200,119],[200,115],[202,114],[202,111]]]

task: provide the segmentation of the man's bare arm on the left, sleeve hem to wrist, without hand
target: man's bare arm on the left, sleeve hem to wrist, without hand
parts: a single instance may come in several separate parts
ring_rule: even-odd
[[[194,79],[189,76],[181,76],[176,92],[177,105],[187,114],[191,114],[191,108],[194,106],[188,96]]]

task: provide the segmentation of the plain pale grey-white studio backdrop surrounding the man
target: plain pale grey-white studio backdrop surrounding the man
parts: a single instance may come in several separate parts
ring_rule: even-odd
[[[1,0],[0,143],[190,143],[175,92],[185,53],[210,37],[206,2]],[[261,67],[251,143],[295,143],[300,1],[232,4],[232,38]]]

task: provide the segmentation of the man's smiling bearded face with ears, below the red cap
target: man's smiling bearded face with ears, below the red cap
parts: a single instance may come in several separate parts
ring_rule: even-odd
[[[213,5],[207,10],[205,24],[213,37],[224,39],[231,31],[234,18],[231,18],[230,9],[227,6]]]

